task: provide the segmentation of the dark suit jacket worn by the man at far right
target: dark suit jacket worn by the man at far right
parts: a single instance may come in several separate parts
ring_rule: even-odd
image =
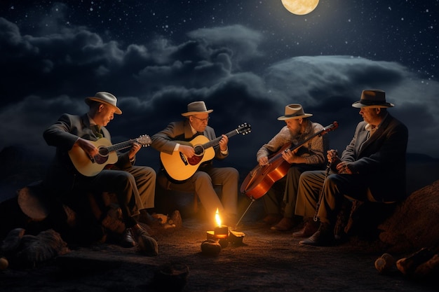
[[[349,168],[364,176],[375,200],[403,200],[406,197],[407,127],[388,113],[367,139],[365,125],[364,121],[358,123],[351,143],[342,153],[342,160],[351,162]]]

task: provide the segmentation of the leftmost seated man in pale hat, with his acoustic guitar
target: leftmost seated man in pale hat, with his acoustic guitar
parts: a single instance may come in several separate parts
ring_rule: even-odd
[[[133,166],[135,154],[142,148],[139,140],[130,143],[129,151],[124,153],[100,153],[97,146],[111,146],[105,126],[122,111],[116,105],[116,97],[108,92],[97,92],[85,102],[90,107],[88,113],[64,113],[44,131],[47,144],[56,147],[44,184],[58,195],[54,200],[72,209],[87,202],[87,193],[115,193],[126,225],[121,244],[133,247],[137,243],[141,251],[155,256],[155,239],[135,217],[140,210],[154,207],[156,172],[151,167]],[[112,169],[107,169],[109,166]]]

